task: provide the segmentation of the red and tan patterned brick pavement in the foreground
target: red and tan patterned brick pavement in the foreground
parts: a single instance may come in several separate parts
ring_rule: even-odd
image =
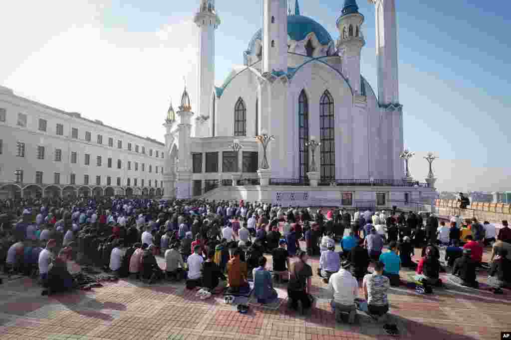
[[[309,263],[316,273],[318,259]],[[408,273],[402,272],[403,280]],[[0,285],[0,339],[391,338],[381,324],[360,312],[355,325],[336,324],[326,286],[313,277],[317,302],[309,316],[287,310],[286,303],[276,310],[251,305],[242,315],[236,306],[224,304],[223,297],[196,298],[183,283],[148,285],[123,279],[89,292],[47,297],[32,279],[21,277]],[[285,298],[285,285],[276,288]],[[403,339],[498,339],[501,331],[511,330],[510,296],[508,290],[494,295],[452,285],[418,295],[401,285],[390,291],[389,321],[398,325]]]

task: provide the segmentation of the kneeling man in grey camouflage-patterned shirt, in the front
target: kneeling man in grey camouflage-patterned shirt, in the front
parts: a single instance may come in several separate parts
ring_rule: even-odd
[[[365,310],[365,305],[360,309],[375,317],[381,317],[388,312],[387,292],[390,280],[383,275],[384,267],[383,263],[376,261],[374,273],[365,275],[362,282],[367,300],[367,310]]]

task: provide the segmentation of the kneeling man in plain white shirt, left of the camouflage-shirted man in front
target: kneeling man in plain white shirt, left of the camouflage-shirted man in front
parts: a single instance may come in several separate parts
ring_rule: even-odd
[[[342,322],[343,313],[349,313],[347,322],[353,324],[357,315],[355,298],[358,296],[358,282],[349,271],[350,266],[349,260],[343,261],[342,268],[330,276],[327,290],[333,294],[330,304],[335,320]]]

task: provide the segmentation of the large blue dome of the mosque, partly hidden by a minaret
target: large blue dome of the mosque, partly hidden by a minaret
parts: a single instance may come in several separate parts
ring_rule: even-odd
[[[305,37],[314,32],[316,38],[318,38],[321,45],[328,45],[332,41],[332,36],[324,27],[322,27],[317,21],[303,15],[289,15],[288,20],[288,36],[292,40],[300,41],[304,40]],[[250,43],[248,44],[248,51],[252,51],[255,41],[263,40],[263,30],[257,31]]]

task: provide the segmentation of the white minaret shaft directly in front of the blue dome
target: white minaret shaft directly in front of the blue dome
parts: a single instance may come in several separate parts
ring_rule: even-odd
[[[287,73],[287,0],[263,0],[263,73]]]

